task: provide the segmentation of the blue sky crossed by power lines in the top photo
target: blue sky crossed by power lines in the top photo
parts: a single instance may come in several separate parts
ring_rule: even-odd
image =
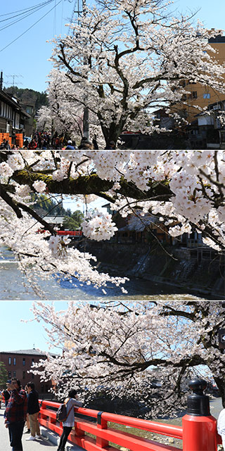
[[[81,1],[81,0],[79,0]],[[93,3],[94,0],[86,1]],[[14,15],[14,11],[32,8],[38,4],[49,2],[43,8],[32,15],[14,23],[11,27],[6,18]],[[72,11],[76,7],[75,0],[11,0],[1,2],[0,11],[0,70],[4,72],[4,84],[14,84],[20,88],[29,88],[44,91],[47,87],[46,77],[51,70],[51,44],[47,40],[53,39],[58,34],[65,34],[68,28],[65,23],[70,22]],[[56,6],[56,8],[54,8]],[[53,8],[53,9],[52,9]],[[224,27],[225,2],[224,0],[176,0],[173,9],[182,13],[190,13],[200,9],[196,18],[203,21],[205,27]],[[50,11],[52,9],[52,11]],[[12,13],[12,14],[9,14]],[[15,15],[20,12],[15,13]],[[42,16],[36,25],[32,27]],[[17,16],[13,21],[18,20]],[[29,31],[25,32],[29,27]],[[4,30],[3,30],[4,28]],[[25,32],[25,34],[23,34]],[[20,34],[23,36],[19,37]],[[9,45],[12,41],[13,44]],[[4,49],[4,47],[6,47]],[[4,50],[3,50],[4,49]]]

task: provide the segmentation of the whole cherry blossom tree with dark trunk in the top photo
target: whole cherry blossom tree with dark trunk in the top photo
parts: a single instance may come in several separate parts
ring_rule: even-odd
[[[53,39],[51,84],[67,84],[63,92],[58,86],[58,102],[75,113],[89,108],[106,144],[126,129],[163,131],[153,125],[153,110],[185,103],[190,92],[182,81],[224,92],[224,66],[208,44],[220,31],[192,21],[174,16],[165,0],[96,1],[68,24],[72,34]]]

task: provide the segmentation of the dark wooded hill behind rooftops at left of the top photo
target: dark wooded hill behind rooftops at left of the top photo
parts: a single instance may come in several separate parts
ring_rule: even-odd
[[[48,105],[48,98],[46,92],[34,91],[34,89],[22,89],[17,86],[11,86],[5,88],[4,91],[7,94],[11,94],[13,96],[18,97],[21,100],[21,103],[25,105],[32,105],[34,109],[37,111],[41,106]]]

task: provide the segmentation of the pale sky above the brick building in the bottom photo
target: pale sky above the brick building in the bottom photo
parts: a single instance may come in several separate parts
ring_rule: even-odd
[[[84,301],[85,302],[85,301]],[[48,351],[46,345],[46,332],[43,323],[36,321],[21,322],[21,319],[32,319],[33,314],[30,311],[32,301],[7,301],[0,302],[1,328],[0,328],[0,350],[12,351],[22,349],[39,348]],[[51,304],[46,301],[46,304]],[[66,301],[56,301],[56,310],[66,310],[68,303]],[[53,348],[51,352],[60,352]]]

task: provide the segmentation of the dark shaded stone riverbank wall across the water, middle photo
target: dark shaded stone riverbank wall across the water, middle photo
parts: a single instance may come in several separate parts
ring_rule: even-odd
[[[84,245],[79,245],[84,250]],[[149,281],[155,288],[167,286],[172,293],[188,293],[207,300],[225,299],[224,258],[212,258],[210,250],[150,248],[145,243],[87,241],[86,252],[96,255],[98,270],[110,275]],[[198,256],[198,258],[197,258]],[[158,294],[156,289],[155,294]]]

